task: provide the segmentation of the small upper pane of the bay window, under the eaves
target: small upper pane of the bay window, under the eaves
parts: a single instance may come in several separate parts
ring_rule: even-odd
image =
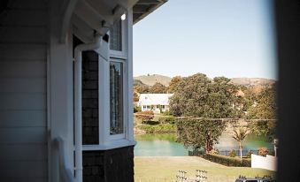
[[[117,21],[110,29],[110,49],[122,51],[122,21]]]

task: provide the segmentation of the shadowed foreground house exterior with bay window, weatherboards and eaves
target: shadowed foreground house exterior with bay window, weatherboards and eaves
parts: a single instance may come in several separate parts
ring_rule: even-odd
[[[134,181],[132,28],[164,3],[0,1],[0,181]]]

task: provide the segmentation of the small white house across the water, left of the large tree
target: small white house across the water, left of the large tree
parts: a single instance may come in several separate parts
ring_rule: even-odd
[[[169,110],[169,98],[173,94],[141,94],[138,105],[142,111],[153,110],[155,113]]]

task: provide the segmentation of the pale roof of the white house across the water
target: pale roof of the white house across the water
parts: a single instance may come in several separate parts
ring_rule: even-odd
[[[169,98],[173,94],[141,94],[139,104],[142,105],[169,105]]]

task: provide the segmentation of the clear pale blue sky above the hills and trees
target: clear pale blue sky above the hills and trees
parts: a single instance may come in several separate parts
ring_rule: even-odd
[[[272,0],[169,0],[134,26],[134,75],[276,79]]]

